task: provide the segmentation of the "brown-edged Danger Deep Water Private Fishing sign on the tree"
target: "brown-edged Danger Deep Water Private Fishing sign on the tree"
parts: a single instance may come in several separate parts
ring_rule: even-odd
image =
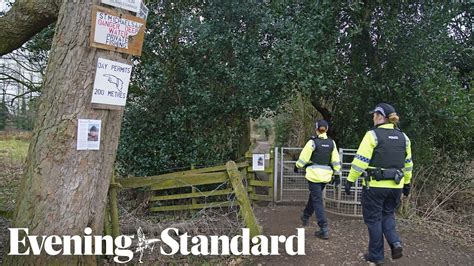
[[[144,19],[100,6],[92,8],[92,47],[141,55],[144,36]]]

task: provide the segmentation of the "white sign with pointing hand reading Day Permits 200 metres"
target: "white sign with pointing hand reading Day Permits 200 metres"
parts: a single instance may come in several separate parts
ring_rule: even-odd
[[[99,58],[91,102],[125,106],[131,73],[131,65]]]

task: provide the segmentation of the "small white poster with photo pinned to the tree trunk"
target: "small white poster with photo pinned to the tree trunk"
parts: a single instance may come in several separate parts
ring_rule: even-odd
[[[77,150],[99,150],[101,120],[79,119],[77,123]]]

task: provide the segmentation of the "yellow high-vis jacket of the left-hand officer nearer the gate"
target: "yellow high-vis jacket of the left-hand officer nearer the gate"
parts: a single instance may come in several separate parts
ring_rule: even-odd
[[[323,133],[318,136],[321,139],[327,139],[328,136],[326,133]],[[334,143],[334,148],[331,153],[331,165],[336,172],[340,172],[341,170],[341,161],[339,159],[339,153],[337,151],[336,143]],[[313,155],[313,151],[315,149],[314,141],[310,139],[306,145],[304,146],[303,150],[300,153],[298,161],[296,162],[296,167],[303,168],[305,165],[306,167],[306,179],[314,183],[328,183],[332,179],[333,169],[329,165],[318,165],[311,162],[311,156]]]

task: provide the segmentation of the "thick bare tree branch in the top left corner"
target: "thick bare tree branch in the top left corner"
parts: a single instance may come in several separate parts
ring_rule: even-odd
[[[58,18],[61,0],[17,0],[0,17],[0,56],[20,48]]]

